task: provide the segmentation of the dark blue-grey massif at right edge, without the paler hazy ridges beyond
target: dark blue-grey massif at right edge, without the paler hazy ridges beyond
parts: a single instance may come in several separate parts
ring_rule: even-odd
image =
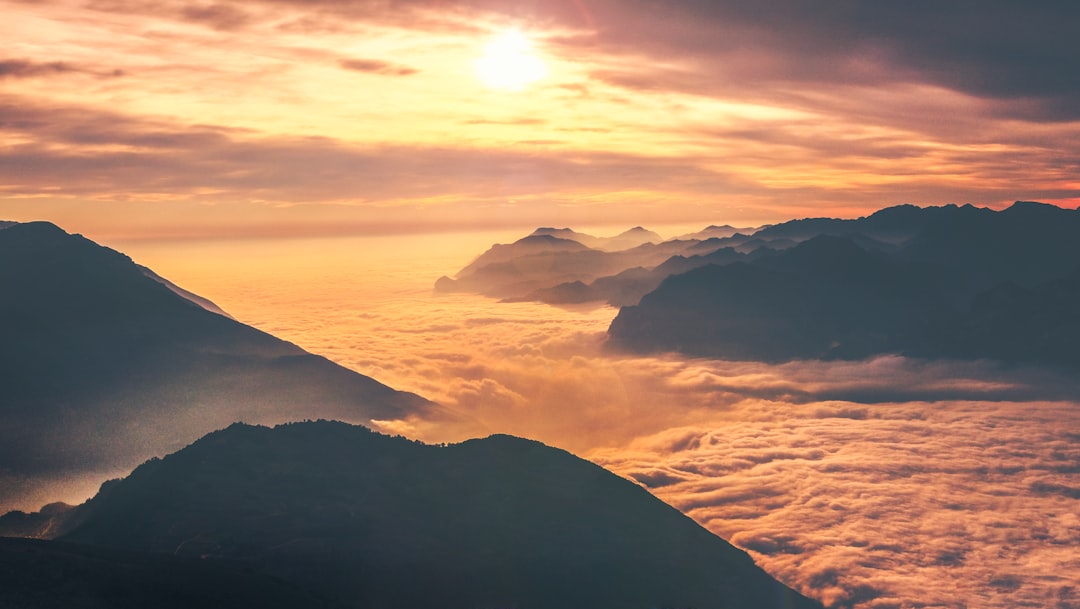
[[[1080,296],[1080,213],[902,206],[758,234],[819,230],[782,253],[670,276],[620,310],[610,344],[770,362],[902,353],[1080,365],[1069,347],[1080,310],[1067,304]]]

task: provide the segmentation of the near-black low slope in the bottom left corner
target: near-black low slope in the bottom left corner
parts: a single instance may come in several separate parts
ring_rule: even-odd
[[[4,609],[339,609],[248,567],[31,539],[0,539]]]

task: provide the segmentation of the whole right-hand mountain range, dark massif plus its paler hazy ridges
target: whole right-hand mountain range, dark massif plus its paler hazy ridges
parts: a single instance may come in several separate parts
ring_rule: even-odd
[[[637,353],[1080,366],[1080,314],[1068,306],[1080,297],[1075,209],[899,205],[616,252],[580,234],[538,229],[496,245],[436,290],[619,307],[608,346]]]

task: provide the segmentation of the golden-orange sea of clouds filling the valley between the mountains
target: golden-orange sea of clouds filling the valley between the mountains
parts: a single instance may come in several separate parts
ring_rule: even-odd
[[[432,442],[502,432],[571,449],[829,607],[1080,601],[1076,379],[892,356],[616,356],[603,349],[610,309],[433,295],[435,276],[482,248],[470,239],[494,238],[143,244],[133,255],[156,268],[172,259],[170,276],[233,315],[461,417],[383,431]]]

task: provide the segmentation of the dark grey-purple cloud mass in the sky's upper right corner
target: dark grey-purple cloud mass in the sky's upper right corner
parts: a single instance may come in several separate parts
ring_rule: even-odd
[[[693,57],[699,69],[710,62],[714,76],[741,86],[805,83],[827,90],[919,81],[995,100],[1004,114],[1051,121],[1080,116],[1080,86],[1063,78],[1080,68],[1080,45],[1068,35],[1080,12],[1067,2],[809,6],[792,0],[684,0],[665,3],[670,35],[653,36],[644,36],[654,13],[643,5],[636,3],[637,14],[623,21],[608,21],[612,25],[602,37]]]

